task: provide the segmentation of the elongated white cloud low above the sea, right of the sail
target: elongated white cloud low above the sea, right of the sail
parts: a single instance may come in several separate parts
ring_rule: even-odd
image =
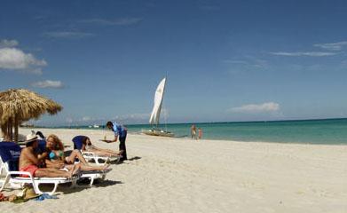
[[[280,110],[280,105],[274,102],[267,102],[263,104],[249,104],[229,109],[233,113],[246,113],[246,114],[263,114],[263,113],[276,113]]]

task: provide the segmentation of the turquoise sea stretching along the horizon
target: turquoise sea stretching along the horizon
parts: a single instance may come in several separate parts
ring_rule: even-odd
[[[347,118],[276,122],[203,122],[194,123],[202,138],[237,141],[347,145]],[[192,123],[161,125],[177,137],[190,137]],[[150,125],[126,125],[129,132],[151,129]],[[86,126],[75,128],[88,129]],[[102,130],[102,128],[99,128]]]

